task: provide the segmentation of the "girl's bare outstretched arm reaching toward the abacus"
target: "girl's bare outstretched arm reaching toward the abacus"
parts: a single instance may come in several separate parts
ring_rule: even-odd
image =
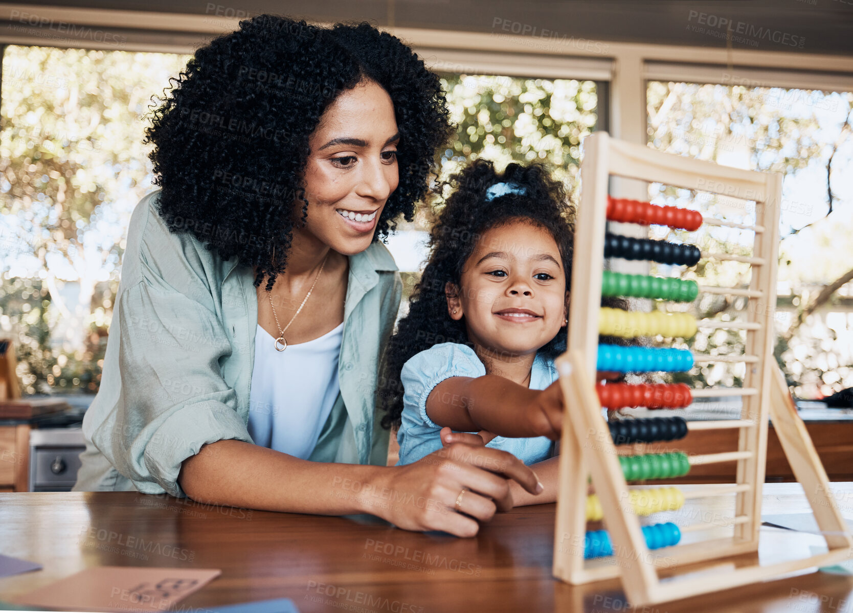
[[[450,377],[430,392],[427,415],[452,430],[556,439],[563,419],[563,394],[559,381],[544,390],[531,390],[494,374]]]

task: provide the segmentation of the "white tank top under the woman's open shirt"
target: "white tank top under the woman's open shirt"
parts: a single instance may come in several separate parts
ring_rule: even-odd
[[[307,460],[338,397],[344,324],[307,343],[276,351],[258,326],[249,397],[248,431],[261,447]]]

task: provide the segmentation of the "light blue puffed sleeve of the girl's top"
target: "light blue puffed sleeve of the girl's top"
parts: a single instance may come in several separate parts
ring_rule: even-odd
[[[432,389],[450,377],[482,377],[483,362],[464,344],[441,343],[412,356],[403,364],[403,414],[397,442],[398,464],[420,460],[441,448],[441,426],[427,415],[427,397]]]

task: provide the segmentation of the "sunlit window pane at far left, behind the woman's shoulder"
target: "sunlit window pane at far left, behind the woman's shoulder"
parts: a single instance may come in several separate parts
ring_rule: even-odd
[[[0,130],[0,333],[27,394],[97,390],[144,115],[189,56],[9,46]]]

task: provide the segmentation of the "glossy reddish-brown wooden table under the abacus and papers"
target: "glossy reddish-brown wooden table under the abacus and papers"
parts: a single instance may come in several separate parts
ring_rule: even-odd
[[[833,490],[844,514],[853,516],[853,483],[833,483]],[[692,509],[696,503],[688,500],[684,512],[722,517],[734,511],[733,495],[703,500]],[[764,512],[808,510],[798,484],[765,486]],[[821,538],[763,528],[762,541],[761,558],[769,562]],[[457,539],[406,532],[370,516],[246,511],[136,492],[0,494],[0,552],[44,564],[44,570],[0,579],[0,600],[110,564],[221,569],[222,575],[178,604],[182,610],[282,597],[300,611],[376,613],[853,608],[853,577],[826,573],[633,608],[624,603],[618,581],[584,587],[554,581],[553,543],[554,505],[514,509],[476,538]]]

